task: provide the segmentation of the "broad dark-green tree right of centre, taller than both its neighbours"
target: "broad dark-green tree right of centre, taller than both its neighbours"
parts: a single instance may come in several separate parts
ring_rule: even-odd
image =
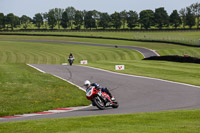
[[[155,16],[155,25],[159,29],[162,29],[163,27],[167,27],[169,25],[169,16],[164,7],[157,8],[155,10],[154,16]]]

